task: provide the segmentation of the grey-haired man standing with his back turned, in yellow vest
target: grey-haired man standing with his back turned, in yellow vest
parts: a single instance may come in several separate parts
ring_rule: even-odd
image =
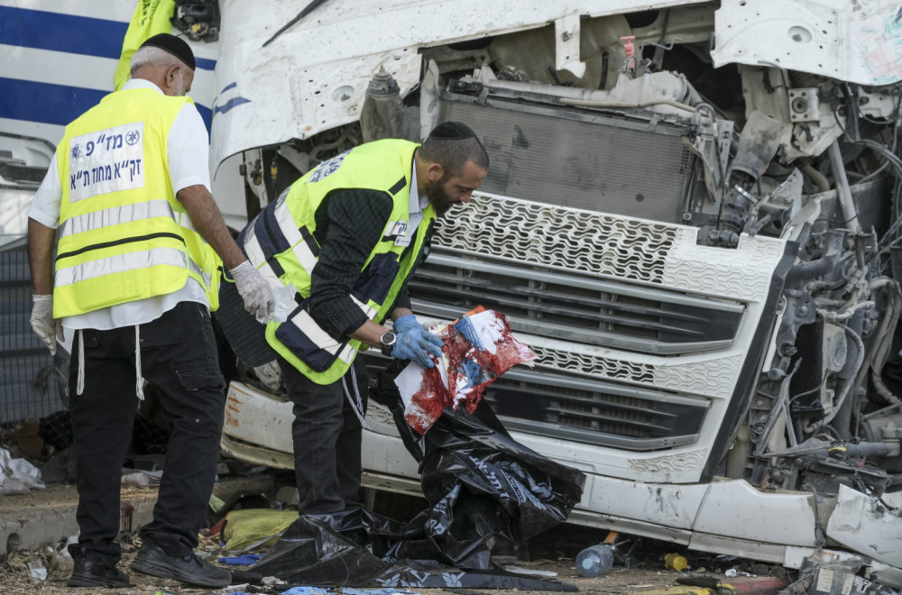
[[[172,433],[132,569],[205,587],[231,581],[194,555],[225,407],[210,320],[219,268],[261,322],[274,300],[210,194],[207,129],[185,96],[194,69],[185,41],[169,33],[145,41],[132,79],[66,127],[28,211],[32,328],[51,352],[63,328],[74,333],[69,410],[80,534],[69,546],[72,587],[129,586],[114,539],[143,378]]]

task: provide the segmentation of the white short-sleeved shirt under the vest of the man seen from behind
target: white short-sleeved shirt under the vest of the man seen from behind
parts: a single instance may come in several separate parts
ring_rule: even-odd
[[[123,86],[123,89],[135,88],[150,88],[162,94],[160,87],[143,78],[133,78]],[[204,125],[204,121],[194,105],[185,105],[176,116],[166,144],[166,155],[169,161],[172,192],[178,193],[182,188],[198,184],[209,190],[210,170],[207,163],[209,137],[207,136],[207,126]],[[47,175],[32,199],[32,206],[28,209],[29,218],[47,227],[58,228],[60,226],[61,200],[60,169],[54,154],[50,168],[47,169]],[[204,290],[197,282],[189,279],[185,287],[178,291],[163,296],[117,304],[87,312],[87,314],[67,316],[62,319],[62,325],[70,329],[97,328],[99,330],[143,325],[156,320],[176,304],[184,301],[198,302],[208,306]]]

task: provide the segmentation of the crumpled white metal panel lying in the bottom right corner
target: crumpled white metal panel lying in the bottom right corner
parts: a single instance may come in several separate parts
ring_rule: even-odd
[[[888,499],[899,494],[884,494]],[[902,567],[902,517],[888,510],[878,499],[840,485],[836,509],[827,523],[827,536],[882,563]]]

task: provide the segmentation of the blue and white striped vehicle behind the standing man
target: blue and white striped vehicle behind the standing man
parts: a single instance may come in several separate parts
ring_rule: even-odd
[[[0,2],[4,56],[0,66],[0,247],[21,243],[24,211],[66,124],[113,91],[123,38],[136,4],[133,0]],[[186,14],[185,6],[181,14]],[[219,43],[188,41],[198,66],[189,95],[209,128]],[[226,221],[240,228],[246,219],[244,192],[235,168],[232,173],[231,178],[217,179],[214,190]]]

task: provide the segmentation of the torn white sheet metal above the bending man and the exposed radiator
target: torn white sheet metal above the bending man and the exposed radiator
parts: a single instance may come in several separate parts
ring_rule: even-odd
[[[229,155],[259,146],[307,139],[360,118],[366,87],[384,67],[401,96],[419,85],[419,50],[486,35],[523,31],[560,21],[561,32],[578,33],[580,16],[603,16],[701,0],[591,0],[542,2],[499,0],[486,14],[480,0],[423,3],[391,0],[361,4],[331,0],[263,42],[298,14],[295,3],[225,0],[221,55],[216,67],[212,170]],[[566,17],[566,18],[565,18]],[[575,41],[569,41],[573,39]],[[578,35],[562,40],[571,50]],[[568,42],[569,41],[569,42]],[[572,52],[571,52],[572,53]],[[560,67],[579,69],[578,55],[565,54]]]

